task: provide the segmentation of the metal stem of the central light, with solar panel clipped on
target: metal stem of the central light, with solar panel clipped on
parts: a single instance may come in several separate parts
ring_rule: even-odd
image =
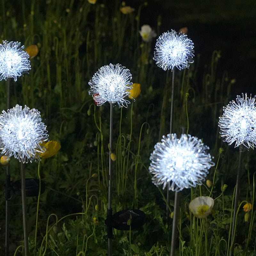
[[[107,218],[112,216],[112,206],[111,206],[111,184],[112,184],[112,134],[113,134],[113,103],[110,103],[110,126],[109,126],[109,178],[108,178],[108,210]],[[112,238],[113,238],[113,228],[108,226],[108,256],[112,255]]]

